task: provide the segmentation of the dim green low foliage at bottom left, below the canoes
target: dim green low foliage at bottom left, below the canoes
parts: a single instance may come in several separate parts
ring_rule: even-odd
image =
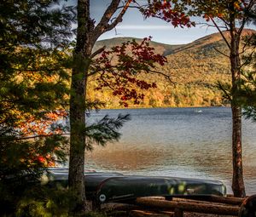
[[[70,210],[72,210],[75,207],[75,196],[73,195],[73,192],[69,191],[67,188],[64,188],[62,186],[43,186],[39,182],[33,182],[29,187],[26,187],[26,190],[20,190],[20,193],[21,192],[22,194],[20,194],[19,200],[16,202],[16,204],[12,203],[12,205],[14,206],[9,206],[9,209],[3,206],[10,204],[3,203],[3,198],[1,198],[1,216],[107,217],[107,215],[105,214],[96,212],[81,212],[79,215],[70,213]],[[7,194],[7,196],[9,196],[9,194]],[[12,202],[14,202],[14,200],[12,200]],[[5,213],[3,212],[3,208]]]

